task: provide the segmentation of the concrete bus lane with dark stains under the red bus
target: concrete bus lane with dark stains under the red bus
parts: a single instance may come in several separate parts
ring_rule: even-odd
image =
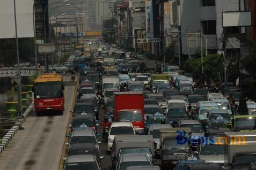
[[[13,140],[0,155],[2,169],[58,169],[62,146],[73,103],[75,82],[70,74],[63,74],[65,81],[65,111],[63,115],[48,114],[37,117],[34,110]]]

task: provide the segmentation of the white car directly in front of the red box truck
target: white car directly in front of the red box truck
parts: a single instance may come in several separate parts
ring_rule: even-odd
[[[107,148],[111,151],[115,135],[135,134],[133,123],[131,122],[113,122],[108,132]]]

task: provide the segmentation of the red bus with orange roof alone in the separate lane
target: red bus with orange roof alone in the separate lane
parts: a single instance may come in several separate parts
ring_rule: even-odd
[[[46,111],[64,111],[64,85],[59,74],[42,74],[34,81],[34,104],[37,115]]]

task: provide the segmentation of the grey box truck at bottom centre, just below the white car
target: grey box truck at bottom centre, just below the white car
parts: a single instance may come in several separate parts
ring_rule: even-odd
[[[155,142],[152,135],[115,135],[111,148],[112,166],[121,154],[144,153],[153,162],[155,157]]]

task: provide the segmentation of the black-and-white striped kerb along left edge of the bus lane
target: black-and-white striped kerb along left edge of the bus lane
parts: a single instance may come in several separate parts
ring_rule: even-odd
[[[21,125],[25,122],[27,117],[30,115],[30,111],[33,107],[34,107],[34,102],[32,102],[30,106],[27,107],[26,111],[23,113],[23,118],[19,120],[19,122],[21,122]],[[14,135],[18,132],[19,125],[20,125],[19,122],[16,122],[15,125],[11,127],[10,130],[2,138],[2,143],[0,143],[0,154],[4,152],[4,150],[6,149],[8,144],[11,142]]]

